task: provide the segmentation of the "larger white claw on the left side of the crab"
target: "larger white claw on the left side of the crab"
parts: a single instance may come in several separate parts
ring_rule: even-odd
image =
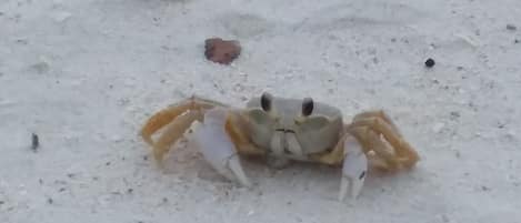
[[[226,109],[214,108],[207,111],[204,122],[193,131],[190,143],[203,154],[218,173],[230,181],[239,181],[244,186],[251,186],[224,129],[226,121]]]

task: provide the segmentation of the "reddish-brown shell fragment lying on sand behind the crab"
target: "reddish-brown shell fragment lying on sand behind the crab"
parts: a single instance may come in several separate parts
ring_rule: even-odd
[[[237,40],[211,38],[204,41],[204,55],[213,62],[230,64],[240,53],[241,45]]]

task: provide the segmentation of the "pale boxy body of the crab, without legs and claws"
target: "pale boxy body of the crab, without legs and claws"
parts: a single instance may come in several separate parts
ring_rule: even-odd
[[[341,111],[323,103],[302,115],[302,100],[272,98],[271,110],[263,111],[261,98],[247,103],[251,141],[273,156],[309,161],[309,154],[334,148],[343,133]]]

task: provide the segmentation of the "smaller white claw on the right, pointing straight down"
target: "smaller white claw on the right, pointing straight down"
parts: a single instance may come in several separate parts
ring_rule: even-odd
[[[362,190],[368,171],[368,159],[362,146],[354,138],[348,138],[343,144],[344,160],[339,200],[343,201],[350,189],[350,196],[355,200]]]

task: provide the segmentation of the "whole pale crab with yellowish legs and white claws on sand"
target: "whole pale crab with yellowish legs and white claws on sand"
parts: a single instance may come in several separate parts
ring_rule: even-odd
[[[252,184],[241,156],[262,156],[274,168],[291,161],[339,166],[340,201],[348,192],[351,199],[359,196],[370,168],[397,172],[411,169],[420,159],[383,110],[360,112],[344,123],[333,105],[268,92],[249,100],[246,108],[186,98],[152,114],[141,136],[162,163],[189,129],[189,146],[199,150],[219,174],[243,186]],[[154,141],[152,135],[160,130]]]

